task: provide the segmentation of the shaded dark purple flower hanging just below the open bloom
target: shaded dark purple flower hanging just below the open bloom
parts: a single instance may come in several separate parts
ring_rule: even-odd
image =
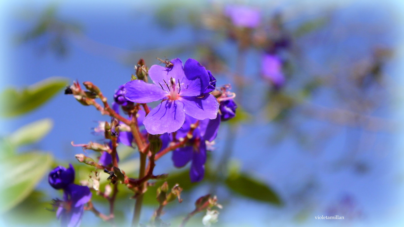
[[[177,139],[185,137],[191,128],[191,124],[196,123],[196,121],[195,118],[185,116],[184,125],[177,131]],[[204,177],[206,162],[205,141],[213,141],[215,139],[219,123],[219,118],[200,120],[198,128],[193,132],[192,139],[187,142],[185,147],[180,147],[173,151],[172,160],[175,167],[181,168],[191,161],[191,168],[189,170],[191,182],[201,181]]]

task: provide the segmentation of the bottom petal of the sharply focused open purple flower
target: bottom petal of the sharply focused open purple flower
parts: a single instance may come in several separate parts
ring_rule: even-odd
[[[162,101],[147,114],[143,124],[150,134],[177,131],[184,124],[184,104],[180,101]]]

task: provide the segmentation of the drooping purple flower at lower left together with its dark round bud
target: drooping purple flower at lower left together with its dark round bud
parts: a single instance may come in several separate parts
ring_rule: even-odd
[[[48,182],[55,189],[63,189],[63,201],[55,200],[56,217],[61,219],[62,227],[77,227],[81,223],[84,204],[91,199],[90,189],[75,185],[74,168],[69,164],[66,169],[58,166],[49,173]]]

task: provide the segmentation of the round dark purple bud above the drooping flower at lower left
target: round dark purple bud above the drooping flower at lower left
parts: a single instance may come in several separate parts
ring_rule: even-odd
[[[72,164],[69,164],[69,166],[68,169],[58,166],[49,173],[48,182],[50,186],[55,189],[64,189],[67,185],[73,183],[74,168]]]

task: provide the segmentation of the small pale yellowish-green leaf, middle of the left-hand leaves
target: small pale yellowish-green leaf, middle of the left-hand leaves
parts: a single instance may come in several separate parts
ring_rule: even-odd
[[[15,147],[36,143],[46,136],[52,127],[53,121],[50,118],[38,120],[13,132],[9,140]]]

